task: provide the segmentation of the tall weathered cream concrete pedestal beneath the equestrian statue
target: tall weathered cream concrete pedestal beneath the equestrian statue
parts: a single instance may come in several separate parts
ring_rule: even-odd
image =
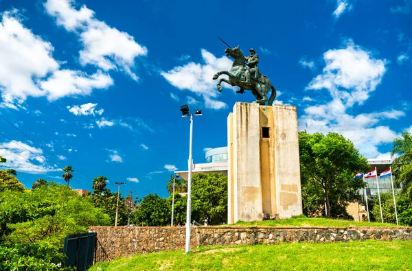
[[[227,118],[228,224],[302,213],[295,106],[237,102]]]

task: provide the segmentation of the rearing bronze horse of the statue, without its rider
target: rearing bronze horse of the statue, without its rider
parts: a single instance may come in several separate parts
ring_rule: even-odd
[[[225,50],[225,54],[226,56],[231,56],[234,61],[230,71],[219,71],[213,76],[213,80],[218,79],[222,74],[229,76],[229,80],[226,78],[220,78],[217,84],[218,91],[222,92],[222,86],[220,86],[220,83],[225,82],[231,86],[239,86],[240,91],[236,91],[237,93],[243,93],[244,89],[252,91],[252,94],[256,97],[254,103],[264,106],[266,102],[268,102],[268,106],[271,106],[276,98],[276,89],[272,86],[271,81],[268,80],[265,75],[259,73],[258,78],[255,79],[251,76],[251,82],[244,82],[244,69],[246,69],[244,62],[246,59],[244,58],[242,50],[239,49],[239,46],[227,48]],[[272,93],[268,100],[266,94],[270,89],[272,89]]]

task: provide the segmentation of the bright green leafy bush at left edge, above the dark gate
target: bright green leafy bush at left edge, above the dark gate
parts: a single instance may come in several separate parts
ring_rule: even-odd
[[[53,182],[29,192],[4,191],[0,202],[4,243],[43,240],[62,247],[66,235],[87,233],[89,226],[109,223],[108,215],[95,208],[91,198]]]

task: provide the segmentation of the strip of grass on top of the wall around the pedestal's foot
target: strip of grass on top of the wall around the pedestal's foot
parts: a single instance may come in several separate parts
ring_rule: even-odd
[[[254,222],[237,222],[227,226],[333,226],[333,227],[396,227],[396,224],[378,222],[354,222],[353,220],[336,220],[323,217],[295,217],[285,220],[264,220]]]

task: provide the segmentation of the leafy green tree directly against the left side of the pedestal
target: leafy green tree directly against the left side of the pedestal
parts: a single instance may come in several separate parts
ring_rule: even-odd
[[[192,178],[192,221],[208,225],[227,223],[227,177],[219,173]]]

